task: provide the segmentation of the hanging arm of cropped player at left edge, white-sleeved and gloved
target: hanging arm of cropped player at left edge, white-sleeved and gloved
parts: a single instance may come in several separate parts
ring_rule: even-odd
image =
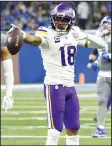
[[[6,94],[3,98],[3,108],[9,110],[13,107],[12,90],[14,84],[13,62],[11,55],[6,47],[7,35],[1,33],[1,60],[4,69],[4,77],[6,84]]]

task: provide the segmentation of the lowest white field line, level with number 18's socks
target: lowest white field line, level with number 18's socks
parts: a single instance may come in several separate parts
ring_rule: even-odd
[[[47,136],[33,136],[33,135],[3,135],[1,138],[47,138]],[[66,138],[66,136],[60,136],[60,138]],[[79,136],[80,139],[82,138],[92,138],[92,136]],[[103,137],[105,139],[110,139],[111,137]]]

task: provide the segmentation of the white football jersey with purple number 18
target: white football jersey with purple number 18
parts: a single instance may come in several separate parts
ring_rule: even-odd
[[[42,38],[40,45],[43,66],[46,71],[44,83],[74,86],[75,54],[80,29],[73,26],[68,34],[58,35],[52,28],[40,27],[35,36]]]

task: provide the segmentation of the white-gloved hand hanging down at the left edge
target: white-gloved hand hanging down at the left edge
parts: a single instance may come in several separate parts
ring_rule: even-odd
[[[8,111],[11,108],[13,108],[13,104],[14,104],[14,100],[13,100],[12,97],[4,96],[4,98],[3,98],[3,109],[5,109],[5,111]]]

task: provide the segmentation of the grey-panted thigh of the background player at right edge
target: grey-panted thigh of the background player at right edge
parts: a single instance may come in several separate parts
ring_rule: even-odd
[[[98,102],[107,102],[111,96],[111,85],[108,83],[107,77],[97,78],[97,95]]]

